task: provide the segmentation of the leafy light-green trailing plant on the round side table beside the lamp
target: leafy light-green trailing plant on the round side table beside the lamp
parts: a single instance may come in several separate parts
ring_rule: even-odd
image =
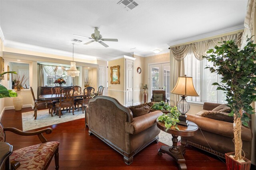
[[[177,129],[180,130],[177,126],[177,123],[179,122],[179,115],[180,112],[178,111],[177,107],[171,107],[170,113],[163,114],[158,117],[158,121],[164,122],[164,126],[166,127],[167,131],[168,129]]]

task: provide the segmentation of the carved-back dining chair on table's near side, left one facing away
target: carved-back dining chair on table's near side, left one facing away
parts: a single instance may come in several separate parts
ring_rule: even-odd
[[[71,92],[72,91],[72,92]],[[70,94],[71,92],[71,94]],[[68,108],[69,113],[72,107],[72,114],[74,115],[74,88],[72,87],[64,87],[60,89],[60,100],[58,103],[55,103],[55,113],[59,114],[59,118],[61,117],[61,108]],[[58,111],[58,112],[57,112]]]

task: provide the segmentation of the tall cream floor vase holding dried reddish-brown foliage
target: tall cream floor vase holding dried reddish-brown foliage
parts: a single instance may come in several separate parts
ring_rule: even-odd
[[[22,109],[23,105],[23,97],[21,95],[21,90],[24,89],[25,82],[27,81],[28,78],[26,78],[25,75],[18,75],[16,79],[14,79],[14,90],[17,92],[17,97],[14,97],[12,99],[14,109],[16,111],[20,111]]]

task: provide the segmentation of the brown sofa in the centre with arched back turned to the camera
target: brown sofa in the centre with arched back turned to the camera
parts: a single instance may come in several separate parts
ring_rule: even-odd
[[[94,134],[122,154],[128,165],[136,153],[153,141],[158,142],[160,129],[156,126],[156,119],[162,114],[155,111],[133,117],[128,107],[108,96],[90,99],[86,108],[89,135]]]

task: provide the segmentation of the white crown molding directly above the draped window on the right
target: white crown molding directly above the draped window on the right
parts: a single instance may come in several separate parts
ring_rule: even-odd
[[[181,43],[192,42],[192,41],[200,40],[200,39],[203,39],[203,38],[218,36],[220,34],[226,34],[226,33],[229,33],[229,32],[234,32],[234,31],[243,30],[243,29],[244,29],[244,25],[240,25],[240,26],[235,26],[235,27],[227,28],[227,29],[224,29],[224,30],[216,31],[216,32],[202,34],[200,36],[195,36],[195,37],[186,38],[186,39],[183,39],[183,40],[169,42],[167,44],[169,46],[173,46],[173,45],[178,45],[178,44],[181,44]]]

